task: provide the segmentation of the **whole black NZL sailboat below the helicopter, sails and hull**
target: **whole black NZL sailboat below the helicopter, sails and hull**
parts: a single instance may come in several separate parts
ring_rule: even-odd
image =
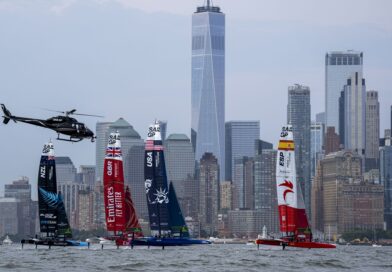
[[[57,192],[56,161],[51,142],[44,145],[38,170],[38,206],[40,236],[24,243],[47,246],[87,246],[74,241],[61,192]]]

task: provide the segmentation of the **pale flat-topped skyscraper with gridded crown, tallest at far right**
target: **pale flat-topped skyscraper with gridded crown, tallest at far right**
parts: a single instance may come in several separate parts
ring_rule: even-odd
[[[339,96],[353,73],[362,74],[363,53],[336,51],[325,55],[325,122],[339,131]]]

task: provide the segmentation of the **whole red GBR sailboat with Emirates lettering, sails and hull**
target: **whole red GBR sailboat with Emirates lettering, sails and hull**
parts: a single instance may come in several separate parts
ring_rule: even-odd
[[[124,192],[124,170],[121,152],[121,140],[118,132],[109,135],[104,161],[104,201],[106,229],[111,232],[101,244],[116,243],[128,245],[134,237],[143,233],[134,208],[129,187]],[[130,237],[131,236],[131,237]]]

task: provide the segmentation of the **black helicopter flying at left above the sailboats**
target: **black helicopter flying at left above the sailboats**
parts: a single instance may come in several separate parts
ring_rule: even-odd
[[[75,118],[70,117],[70,115],[103,117],[100,115],[75,113],[76,110],[73,109],[70,111],[55,111],[55,112],[62,113],[63,115],[58,115],[46,120],[42,120],[42,119],[14,116],[11,114],[11,112],[6,108],[4,104],[1,104],[1,108],[4,113],[3,116],[4,124],[8,124],[8,122],[12,120],[15,123],[19,121],[19,122],[39,126],[39,127],[49,128],[57,132],[57,140],[74,142],[74,143],[80,142],[83,139],[90,139],[91,142],[94,142],[96,136],[94,136],[94,133],[89,128],[87,128],[87,126],[84,123],[81,123]],[[69,138],[61,138],[60,134],[67,135],[69,136]]]

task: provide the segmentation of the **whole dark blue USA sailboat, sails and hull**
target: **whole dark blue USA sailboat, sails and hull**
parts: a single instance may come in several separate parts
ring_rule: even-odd
[[[151,125],[145,145],[145,190],[151,237],[137,238],[135,245],[183,246],[210,244],[189,238],[189,231],[178,204],[174,185],[168,185],[159,122]]]

